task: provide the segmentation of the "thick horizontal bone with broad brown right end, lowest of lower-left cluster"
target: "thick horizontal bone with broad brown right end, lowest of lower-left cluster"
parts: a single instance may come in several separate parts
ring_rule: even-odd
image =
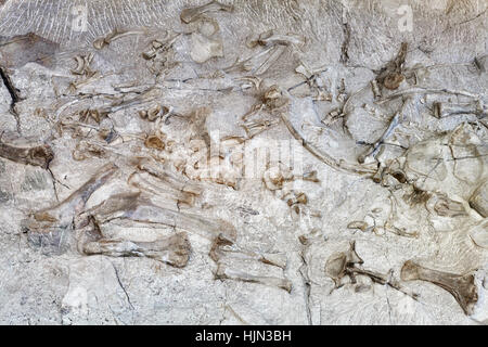
[[[153,242],[100,239],[82,245],[82,252],[87,255],[147,257],[177,268],[183,268],[188,264],[190,250],[190,242],[184,232]]]

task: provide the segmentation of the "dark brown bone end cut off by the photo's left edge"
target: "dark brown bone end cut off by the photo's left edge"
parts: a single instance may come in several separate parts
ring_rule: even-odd
[[[0,141],[0,157],[15,163],[40,166],[46,169],[54,158],[54,152],[49,144],[18,147]]]

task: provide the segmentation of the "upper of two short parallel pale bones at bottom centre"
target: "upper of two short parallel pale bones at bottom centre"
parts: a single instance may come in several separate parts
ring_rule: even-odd
[[[286,255],[282,253],[256,253],[243,249],[223,235],[218,235],[211,244],[210,258],[219,262],[222,257],[257,260],[282,269],[286,268]]]

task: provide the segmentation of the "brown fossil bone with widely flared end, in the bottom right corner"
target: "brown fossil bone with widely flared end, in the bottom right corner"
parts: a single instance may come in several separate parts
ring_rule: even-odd
[[[478,293],[473,273],[454,274],[425,268],[408,260],[401,268],[402,281],[427,281],[448,291],[467,316],[473,313],[474,305],[478,300]]]

